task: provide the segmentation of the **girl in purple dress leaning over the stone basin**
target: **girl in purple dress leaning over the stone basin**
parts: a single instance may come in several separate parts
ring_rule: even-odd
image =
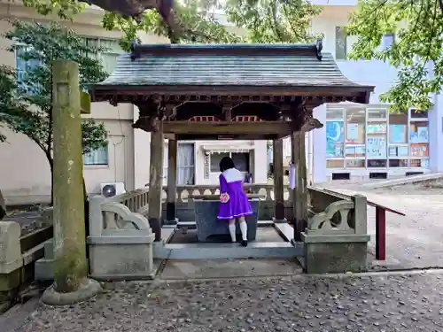
[[[248,244],[245,216],[253,214],[253,208],[243,191],[245,176],[229,157],[221,158],[220,172],[220,212],[217,219],[229,221],[232,242],[236,242],[237,219],[242,232],[242,245],[245,247]]]

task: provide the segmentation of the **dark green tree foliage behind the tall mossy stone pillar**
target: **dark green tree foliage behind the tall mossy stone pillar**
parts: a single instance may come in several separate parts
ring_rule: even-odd
[[[55,59],[73,60],[79,64],[81,88],[86,83],[103,81],[106,73],[97,59],[90,55],[98,49],[86,45],[74,31],[55,24],[12,22],[12,30],[5,37],[14,41],[12,52],[27,61],[20,73],[9,66],[0,66],[0,124],[15,133],[27,135],[52,163],[52,82],[51,63]],[[82,122],[82,148],[89,152],[106,144],[103,125],[93,120]]]

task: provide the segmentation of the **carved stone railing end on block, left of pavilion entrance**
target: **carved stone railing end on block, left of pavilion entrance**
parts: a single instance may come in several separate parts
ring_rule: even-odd
[[[152,278],[155,235],[144,216],[148,189],[89,198],[89,265],[92,277]]]

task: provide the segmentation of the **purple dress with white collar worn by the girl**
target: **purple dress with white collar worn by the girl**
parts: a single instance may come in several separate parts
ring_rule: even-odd
[[[228,193],[229,201],[220,203],[217,219],[231,220],[253,214],[253,208],[243,192],[244,177],[236,168],[230,168],[220,174],[220,193]]]

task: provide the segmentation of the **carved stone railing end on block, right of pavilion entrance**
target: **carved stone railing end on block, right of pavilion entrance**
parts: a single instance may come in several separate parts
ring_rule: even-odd
[[[366,271],[368,259],[367,199],[309,188],[313,215],[301,234],[307,273]]]

